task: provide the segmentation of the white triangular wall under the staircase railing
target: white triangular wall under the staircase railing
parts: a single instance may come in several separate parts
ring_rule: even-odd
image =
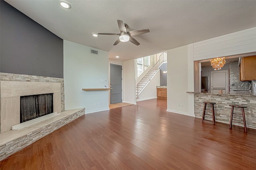
[[[156,86],[160,86],[160,70],[151,78],[147,86],[141,91],[139,98],[136,101],[149,100],[157,98]]]

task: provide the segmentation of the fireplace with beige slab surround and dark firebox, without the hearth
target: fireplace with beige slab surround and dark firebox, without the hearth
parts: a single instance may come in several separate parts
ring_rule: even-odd
[[[18,125],[23,121],[29,121],[31,118],[41,116],[40,118],[43,119],[45,116],[48,116],[45,115],[42,117],[43,114],[61,112],[61,85],[59,82],[0,81],[0,93],[0,133],[12,130],[14,125]],[[46,96],[43,97],[41,96],[42,94],[46,94]],[[38,97],[32,97],[32,95]],[[22,99],[23,96],[29,99],[24,102],[24,99]],[[38,101],[46,103],[46,105],[37,105]],[[52,104],[48,104],[48,102]],[[47,109],[45,108],[46,106]],[[25,111],[23,110],[22,112],[29,114],[29,118],[20,116],[21,109],[25,109]],[[27,110],[32,110],[32,113],[27,113]],[[51,114],[49,114],[49,116],[50,115]]]

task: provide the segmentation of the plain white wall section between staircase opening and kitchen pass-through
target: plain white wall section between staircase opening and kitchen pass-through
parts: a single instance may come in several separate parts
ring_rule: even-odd
[[[189,101],[194,96],[186,93],[194,89],[191,49],[191,45],[185,45],[167,51],[167,111],[194,116],[194,100]]]

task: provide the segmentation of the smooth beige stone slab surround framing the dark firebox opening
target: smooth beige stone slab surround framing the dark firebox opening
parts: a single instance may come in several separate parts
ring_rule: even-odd
[[[20,96],[53,93],[53,112],[61,112],[59,82],[0,81],[1,133],[20,123]]]

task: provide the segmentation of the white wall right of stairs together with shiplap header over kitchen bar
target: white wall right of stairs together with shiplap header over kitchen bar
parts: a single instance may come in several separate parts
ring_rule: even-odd
[[[167,111],[194,116],[194,61],[255,51],[256,27],[168,50]]]

